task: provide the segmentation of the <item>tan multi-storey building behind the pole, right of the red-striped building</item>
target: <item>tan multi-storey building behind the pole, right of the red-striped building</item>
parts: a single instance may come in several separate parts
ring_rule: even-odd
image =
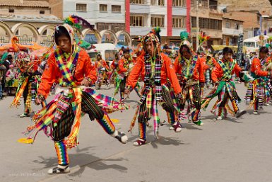
[[[191,26],[194,49],[196,49],[196,16],[199,16],[199,32],[204,32],[210,36],[206,47],[211,45],[222,45],[223,12],[218,10],[217,0],[199,0],[199,10],[196,11],[196,0],[191,0]]]

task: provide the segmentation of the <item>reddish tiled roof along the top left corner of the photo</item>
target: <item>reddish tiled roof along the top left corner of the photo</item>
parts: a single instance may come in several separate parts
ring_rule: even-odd
[[[1,0],[0,6],[49,7],[47,1]]]

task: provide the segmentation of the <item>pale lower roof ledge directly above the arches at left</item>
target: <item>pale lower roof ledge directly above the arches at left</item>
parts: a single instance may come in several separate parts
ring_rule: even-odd
[[[42,22],[42,23],[62,23],[61,19],[54,15],[16,15],[0,14],[1,21],[23,21],[23,22]]]

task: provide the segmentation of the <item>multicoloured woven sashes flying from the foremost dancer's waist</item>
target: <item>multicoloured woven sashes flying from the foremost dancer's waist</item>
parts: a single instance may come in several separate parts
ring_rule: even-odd
[[[124,103],[120,103],[119,101],[115,100],[114,98],[111,98],[109,96],[105,96],[102,94],[97,94],[93,89],[81,89],[81,88],[73,88],[69,90],[69,95],[73,95],[71,105],[73,108],[73,113],[75,114],[75,123],[73,125],[73,129],[71,130],[71,133],[66,141],[64,143],[66,144],[66,147],[72,148],[76,147],[78,144],[78,132],[79,127],[81,124],[81,93],[82,91],[85,91],[86,93],[90,94],[90,96],[93,96],[95,99],[95,102],[98,106],[102,107],[102,110],[107,112],[114,112],[117,110],[124,110],[128,109],[129,106],[124,105]],[[49,126],[55,118],[55,115],[57,114],[57,103],[62,96],[62,93],[57,94],[57,96],[54,97],[54,99],[47,104],[45,108],[42,108],[42,110],[38,111],[32,118],[32,120],[35,121],[35,125],[32,125],[27,128],[27,131],[25,132],[26,135],[28,135],[28,139],[32,139],[33,142],[35,140],[35,137],[37,133],[40,130],[47,130],[47,126]],[[104,118],[105,119],[105,118]],[[113,127],[109,125],[109,132],[110,129]]]

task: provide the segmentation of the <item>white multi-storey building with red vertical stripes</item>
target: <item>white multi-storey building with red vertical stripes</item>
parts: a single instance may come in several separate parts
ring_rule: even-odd
[[[139,38],[159,26],[162,43],[180,42],[179,34],[186,30],[186,0],[126,0],[126,30]]]

